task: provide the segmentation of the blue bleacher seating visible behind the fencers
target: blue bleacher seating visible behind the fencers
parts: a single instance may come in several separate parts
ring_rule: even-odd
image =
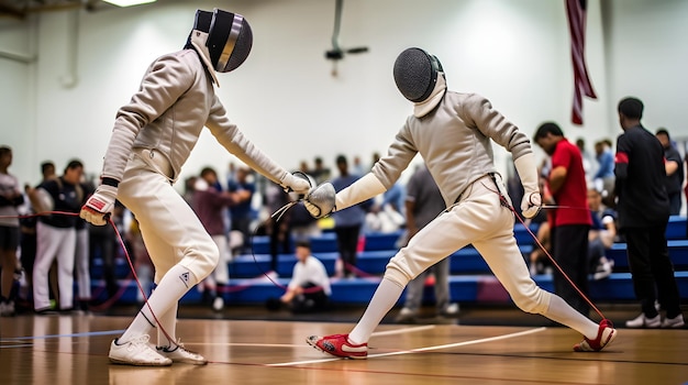
[[[532,224],[530,230],[535,233],[537,226]],[[367,304],[389,258],[397,253],[396,243],[401,232],[370,233],[366,234],[365,249],[358,255],[358,268],[363,278],[337,279],[332,282],[334,302],[341,304]],[[521,253],[525,256],[533,248],[532,235],[522,224],[515,224],[514,237],[520,245]],[[676,268],[676,277],[681,298],[688,297],[688,240],[686,240],[686,218],[672,217],[667,226],[667,239],[669,254]],[[311,239],[313,255],[323,262],[328,274],[334,275],[335,261],[339,257],[336,251],[336,234],[323,232],[322,235]],[[625,243],[614,244],[607,253],[608,257],[615,263],[614,273],[601,280],[590,282],[590,296],[592,300],[615,301],[635,300],[633,284],[628,273],[628,258]],[[296,257],[293,254],[280,254],[278,260],[277,285],[263,276],[269,270],[269,238],[255,237],[253,239],[255,255],[237,255],[230,263],[231,284],[225,299],[232,304],[264,302],[269,297],[278,297],[284,293],[290,279]],[[457,301],[479,302],[508,302],[510,301],[506,290],[491,275],[487,264],[479,253],[470,245],[453,253],[451,256],[450,289],[452,298]],[[127,279],[131,275],[129,263],[122,258],[115,260],[115,275],[120,283],[126,285],[121,298],[122,302],[134,302],[136,283]],[[91,265],[93,293],[102,293],[102,262],[95,258]],[[539,275],[534,280],[544,289],[553,290],[551,275]],[[282,286],[282,287],[280,287]],[[432,298],[433,290],[426,289],[426,296]],[[403,295],[399,299],[401,302]],[[191,289],[184,298],[184,302],[200,301],[200,293]]]

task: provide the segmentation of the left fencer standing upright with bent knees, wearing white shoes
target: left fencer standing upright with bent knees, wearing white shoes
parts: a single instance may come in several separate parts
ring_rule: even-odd
[[[199,10],[184,50],[155,59],[131,101],[116,113],[106,151],[102,183],[81,218],[103,226],[115,199],[138,220],[155,265],[156,290],[130,327],[110,345],[110,360],[131,365],[204,364],[178,341],[179,299],[219,262],[218,248],[173,184],[207,127],[247,166],[282,188],[308,193],[297,178],[258,150],[226,117],[215,96],[217,73],[236,69],[248,56],[253,34],[240,14]],[[148,344],[157,329],[157,349]]]

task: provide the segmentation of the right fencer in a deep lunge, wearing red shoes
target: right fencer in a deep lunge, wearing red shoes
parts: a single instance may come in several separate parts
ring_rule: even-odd
[[[447,208],[390,260],[351,333],[311,336],[307,342],[332,355],[365,359],[373,331],[407,284],[437,261],[473,244],[519,308],[584,334],[575,351],[599,351],[609,344],[617,336],[611,322],[602,320],[598,326],[558,296],[537,287],[513,237],[511,200],[495,167],[491,142],[511,153],[525,190],[523,216],[532,218],[540,210],[541,196],[529,138],[484,97],[447,90],[440,61],[421,48],[408,48],[397,57],[393,77],[399,91],[413,102],[413,114],[407,118],[387,155],[336,195],[328,194],[332,188],[326,184],[314,188],[306,206],[314,217],[321,217],[382,194],[420,153]]]

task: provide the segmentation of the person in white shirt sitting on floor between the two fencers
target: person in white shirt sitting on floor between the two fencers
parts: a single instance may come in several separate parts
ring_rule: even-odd
[[[324,310],[328,307],[332,288],[325,266],[311,255],[311,244],[307,240],[296,243],[297,264],[287,292],[279,298],[268,299],[268,308],[276,310],[285,305],[295,314]]]

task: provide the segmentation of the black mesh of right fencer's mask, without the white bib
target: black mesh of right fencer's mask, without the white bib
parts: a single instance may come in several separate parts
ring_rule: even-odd
[[[440,61],[421,48],[407,48],[395,61],[393,75],[397,88],[412,102],[420,102],[430,97],[441,72]]]

